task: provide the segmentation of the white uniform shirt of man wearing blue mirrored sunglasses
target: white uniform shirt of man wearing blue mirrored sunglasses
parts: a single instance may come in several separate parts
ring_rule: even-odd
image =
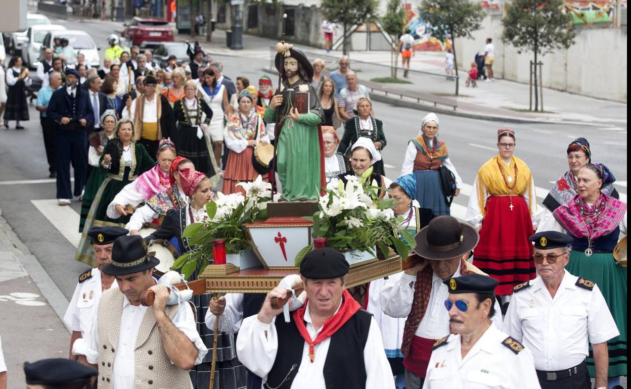
[[[533,354],[508,337],[490,325],[464,358],[460,335],[437,341],[423,389],[541,389]]]

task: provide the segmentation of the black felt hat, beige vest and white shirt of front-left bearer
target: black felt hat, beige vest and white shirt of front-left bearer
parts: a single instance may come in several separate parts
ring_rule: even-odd
[[[140,236],[121,236],[114,242],[112,263],[103,272],[126,276],[150,270],[159,262]],[[196,347],[195,363],[201,362],[208,349],[199,338],[189,302],[167,305],[165,314]],[[170,361],[153,308],[131,305],[119,289],[103,293],[89,344],[87,359],[98,364],[99,388],[191,388],[189,372]]]

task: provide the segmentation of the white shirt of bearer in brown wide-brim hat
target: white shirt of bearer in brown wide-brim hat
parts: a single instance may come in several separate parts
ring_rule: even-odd
[[[460,267],[453,277],[460,277]],[[427,304],[427,311],[416,327],[415,335],[425,339],[441,339],[449,335],[449,311],[445,308],[445,300],[449,298],[449,288],[442,283],[442,279],[433,273],[432,292]],[[392,317],[407,317],[410,315],[414,300],[414,286],[416,276],[401,274],[398,280],[391,279],[381,289],[379,296],[382,310]],[[502,315],[497,301],[494,302],[495,315],[492,320],[497,328],[502,328]]]

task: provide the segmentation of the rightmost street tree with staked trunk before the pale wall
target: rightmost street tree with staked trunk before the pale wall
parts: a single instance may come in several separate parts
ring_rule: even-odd
[[[537,93],[537,56],[574,44],[576,33],[572,16],[562,12],[563,0],[514,0],[507,5],[502,19],[502,41],[516,47],[517,52],[534,54],[534,110],[539,110]]]

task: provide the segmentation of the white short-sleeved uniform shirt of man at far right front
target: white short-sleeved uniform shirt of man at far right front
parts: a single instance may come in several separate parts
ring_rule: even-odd
[[[598,344],[619,335],[598,286],[578,280],[564,270],[554,298],[540,276],[516,286],[503,328],[533,352],[537,370],[572,368],[587,357],[588,339]]]

